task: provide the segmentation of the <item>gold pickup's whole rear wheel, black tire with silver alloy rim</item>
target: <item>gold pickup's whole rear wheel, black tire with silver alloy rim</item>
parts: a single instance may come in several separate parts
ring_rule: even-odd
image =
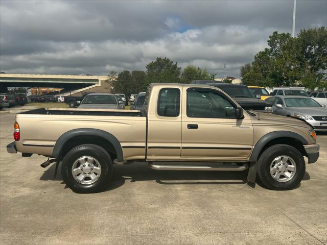
[[[66,154],[61,175],[66,185],[75,192],[99,192],[111,178],[112,161],[101,146],[82,144]]]

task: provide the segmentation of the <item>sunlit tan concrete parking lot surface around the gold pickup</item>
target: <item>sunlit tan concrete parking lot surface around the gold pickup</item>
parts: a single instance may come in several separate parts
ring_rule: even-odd
[[[326,244],[327,136],[298,188],[249,187],[245,173],[114,166],[101,193],[67,188],[43,156],[8,154],[0,114],[1,244]],[[53,129],[49,129],[53,130]],[[37,132],[35,132],[37,133]]]

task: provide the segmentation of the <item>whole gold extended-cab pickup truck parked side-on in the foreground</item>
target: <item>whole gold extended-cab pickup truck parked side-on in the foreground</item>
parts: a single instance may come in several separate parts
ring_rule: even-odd
[[[297,186],[305,161],[316,162],[314,130],[299,119],[245,112],[222,90],[196,84],[151,84],[143,110],[36,109],[18,113],[9,153],[62,161],[76,192],[97,192],[113,164],[148,162],[157,170],[247,170],[270,189]]]

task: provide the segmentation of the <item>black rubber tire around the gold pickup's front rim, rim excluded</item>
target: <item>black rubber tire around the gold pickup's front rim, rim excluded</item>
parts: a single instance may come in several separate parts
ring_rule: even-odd
[[[270,174],[272,161],[278,156],[291,157],[296,165],[294,176],[287,182],[278,182]],[[267,148],[260,156],[257,175],[259,180],[267,188],[272,190],[290,190],[295,188],[306,173],[306,163],[302,154],[294,147],[287,144],[276,144]]]

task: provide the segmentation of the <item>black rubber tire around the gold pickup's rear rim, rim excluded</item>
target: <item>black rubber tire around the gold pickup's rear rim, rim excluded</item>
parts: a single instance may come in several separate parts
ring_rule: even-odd
[[[101,165],[101,174],[98,180],[92,184],[82,184],[74,179],[72,167],[74,162],[82,157],[90,156],[95,158]],[[64,157],[61,165],[61,175],[66,185],[74,192],[94,193],[102,190],[112,176],[112,161],[106,150],[96,144],[81,144],[69,151]]]

